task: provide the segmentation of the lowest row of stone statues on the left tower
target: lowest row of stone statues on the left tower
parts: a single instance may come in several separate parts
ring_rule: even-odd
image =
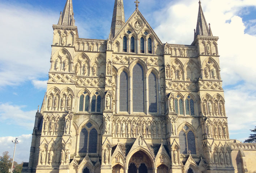
[[[40,149],[39,165],[69,164],[69,150],[44,150]]]

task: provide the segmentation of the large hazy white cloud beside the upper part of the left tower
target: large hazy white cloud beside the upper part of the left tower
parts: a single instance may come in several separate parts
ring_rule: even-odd
[[[30,7],[31,8],[31,7]],[[47,77],[50,67],[52,24],[58,14],[47,9],[1,4],[0,86],[18,85]]]

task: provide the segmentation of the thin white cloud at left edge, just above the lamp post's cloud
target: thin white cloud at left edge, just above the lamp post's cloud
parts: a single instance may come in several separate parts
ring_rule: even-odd
[[[26,129],[33,129],[34,118],[37,110],[23,111],[25,106],[0,103],[0,122],[11,125],[20,125]]]

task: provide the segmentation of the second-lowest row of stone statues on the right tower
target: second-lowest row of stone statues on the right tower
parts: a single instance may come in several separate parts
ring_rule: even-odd
[[[206,132],[209,138],[228,139],[227,127],[225,124],[206,124]]]

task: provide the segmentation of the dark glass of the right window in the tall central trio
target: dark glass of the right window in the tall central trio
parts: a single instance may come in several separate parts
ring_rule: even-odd
[[[149,112],[157,112],[157,78],[149,74]]]

